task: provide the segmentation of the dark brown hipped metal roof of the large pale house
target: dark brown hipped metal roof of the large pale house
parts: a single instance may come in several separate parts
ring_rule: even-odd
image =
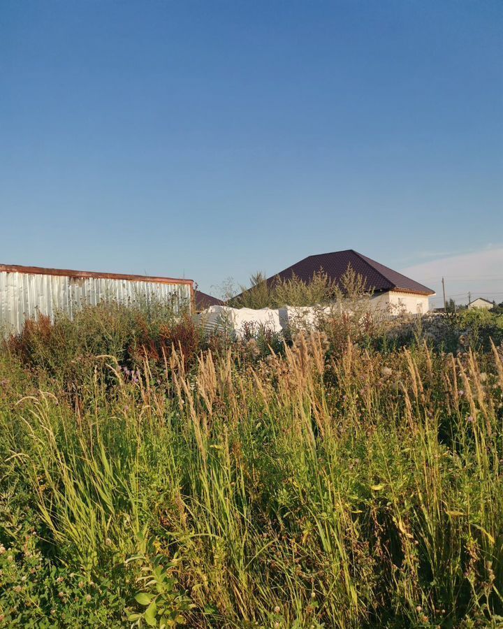
[[[307,256],[307,258],[280,271],[277,275],[273,275],[268,279],[268,282],[278,276],[282,280],[290,280],[293,275],[296,275],[300,280],[307,283],[312,280],[314,273],[321,271],[326,273],[330,280],[338,283],[348,266],[351,266],[356,273],[363,277],[366,282],[365,287],[369,291],[400,291],[419,295],[435,294],[435,291],[423,286],[423,284],[419,284],[411,280],[410,277],[406,277],[402,273],[398,273],[352,249]]]

